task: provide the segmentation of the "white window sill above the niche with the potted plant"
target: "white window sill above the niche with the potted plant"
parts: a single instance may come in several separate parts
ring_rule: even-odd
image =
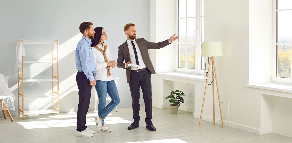
[[[154,75],[175,77],[175,78],[188,79],[188,80],[205,81],[204,75],[196,75],[196,74],[191,74],[191,73],[170,72],[170,73],[156,73]]]

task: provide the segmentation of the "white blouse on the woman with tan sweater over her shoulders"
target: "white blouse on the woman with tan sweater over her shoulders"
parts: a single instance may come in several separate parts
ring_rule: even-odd
[[[104,50],[104,44],[103,46],[97,44],[97,47]],[[105,62],[105,57],[103,56],[103,53],[95,49],[95,47],[92,47],[93,55],[95,58],[95,67],[96,71],[94,72],[94,79],[95,80],[101,80],[104,82],[112,81],[115,79],[114,72],[112,71],[112,68],[110,67],[110,74],[111,76],[107,76],[107,63]],[[107,55],[107,60],[112,61],[112,55],[109,51],[109,46],[107,46],[107,50],[105,51],[105,54]]]

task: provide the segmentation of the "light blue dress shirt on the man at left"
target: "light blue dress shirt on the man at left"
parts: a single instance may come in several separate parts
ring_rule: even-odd
[[[75,51],[75,62],[77,70],[83,70],[89,81],[93,81],[95,72],[95,59],[91,49],[92,42],[85,36],[82,36],[78,42]]]

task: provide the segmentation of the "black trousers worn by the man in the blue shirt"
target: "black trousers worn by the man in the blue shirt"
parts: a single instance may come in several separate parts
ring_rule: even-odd
[[[77,72],[76,82],[79,89],[79,104],[77,110],[77,131],[81,132],[87,127],[86,124],[86,114],[88,112],[90,96],[91,96],[91,86],[90,81],[87,79],[86,75],[81,72]]]

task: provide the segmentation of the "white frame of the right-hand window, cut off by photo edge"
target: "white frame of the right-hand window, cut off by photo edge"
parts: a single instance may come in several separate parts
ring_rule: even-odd
[[[292,43],[277,43],[277,0],[272,0],[272,82],[274,83],[284,83],[284,84],[291,84],[292,83],[292,66],[291,66],[291,78],[287,77],[277,77],[277,45],[282,44],[292,44]],[[292,10],[292,9],[285,9],[285,10]],[[292,64],[292,63],[291,63]]]

